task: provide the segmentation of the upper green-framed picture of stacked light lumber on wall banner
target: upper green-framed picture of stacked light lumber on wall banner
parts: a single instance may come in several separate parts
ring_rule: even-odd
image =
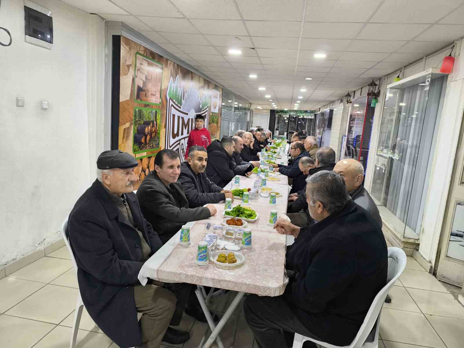
[[[135,53],[135,88],[136,103],[161,104],[161,79],[163,65]]]

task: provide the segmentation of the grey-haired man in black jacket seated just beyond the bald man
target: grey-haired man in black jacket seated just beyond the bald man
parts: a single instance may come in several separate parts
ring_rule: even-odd
[[[315,168],[301,168],[303,174],[313,175],[321,170],[332,170],[335,167],[335,151],[333,148],[324,146],[317,150]],[[290,222],[298,227],[309,226],[314,221],[309,216],[308,202],[306,201],[306,186],[303,190],[289,195],[287,215]]]

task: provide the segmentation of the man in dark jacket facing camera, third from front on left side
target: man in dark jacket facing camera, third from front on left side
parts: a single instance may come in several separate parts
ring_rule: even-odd
[[[187,162],[180,165],[179,182],[184,188],[188,205],[192,208],[204,206],[208,203],[219,203],[231,198],[228,190],[223,190],[206,177],[205,169],[208,163],[206,148],[192,146],[188,149]]]

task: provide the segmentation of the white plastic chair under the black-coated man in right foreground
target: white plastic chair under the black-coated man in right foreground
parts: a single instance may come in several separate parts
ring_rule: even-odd
[[[378,348],[379,347],[379,329],[380,329],[380,311],[382,310],[383,302],[389,290],[393,287],[396,279],[400,277],[406,267],[406,254],[400,248],[388,248],[388,273],[387,285],[379,291],[375,296],[371,307],[367,311],[364,322],[358,331],[353,342],[349,346],[334,346],[326,342],[317,341],[310,337],[295,334],[293,348],[302,348],[303,342],[312,341],[325,348]]]

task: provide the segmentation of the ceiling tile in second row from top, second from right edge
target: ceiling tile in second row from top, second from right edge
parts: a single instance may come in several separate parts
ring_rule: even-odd
[[[428,24],[367,23],[356,39],[411,40],[428,26]]]

